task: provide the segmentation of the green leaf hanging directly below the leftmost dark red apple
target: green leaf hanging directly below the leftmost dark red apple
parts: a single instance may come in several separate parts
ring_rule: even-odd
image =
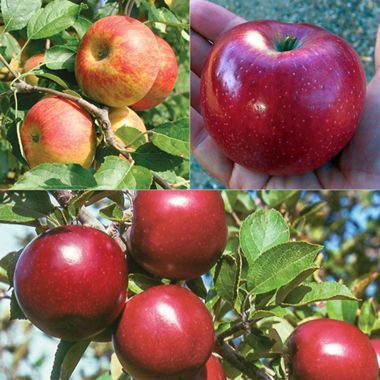
[[[61,340],[55,353],[50,380],[69,380],[91,340],[66,342]]]

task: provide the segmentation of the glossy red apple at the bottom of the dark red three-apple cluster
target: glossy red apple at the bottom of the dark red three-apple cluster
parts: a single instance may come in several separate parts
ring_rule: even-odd
[[[177,285],[160,285],[131,298],[112,338],[123,368],[138,380],[191,379],[214,345],[211,315]]]

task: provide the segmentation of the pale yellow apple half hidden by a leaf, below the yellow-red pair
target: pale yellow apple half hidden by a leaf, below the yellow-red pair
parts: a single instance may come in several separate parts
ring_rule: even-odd
[[[130,127],[135,128],[141,133],[146,133],[146,127],[143,120],[134,112],[132,109],[128,107],[123,108],[113,108],[109,112],[109,118],[112,124],[112,130],[116,132],[121,127]],[[120,144],[125,145],[121,139],[116,137]],[[148,141],[148,136],[145,135],[145,141]],[[132,142],[132,141],[131,141]],[[127,151],[133,153],[135,148],[128,147]]]

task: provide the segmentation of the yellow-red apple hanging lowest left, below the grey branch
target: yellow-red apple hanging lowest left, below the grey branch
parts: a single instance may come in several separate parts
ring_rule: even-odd
[[[20,128],[22,148],[31,167],[43,163],[90,167],[96,133],[91,117],[76,103],[49,96],[36,103]]]

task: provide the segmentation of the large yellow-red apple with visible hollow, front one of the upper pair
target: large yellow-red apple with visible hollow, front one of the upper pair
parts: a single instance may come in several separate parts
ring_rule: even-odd
[[[128,16],[96,21],[76,57],[77,81],[89,97],[111,107],[141,100],[153,86],[160,55],[153,32]]]

